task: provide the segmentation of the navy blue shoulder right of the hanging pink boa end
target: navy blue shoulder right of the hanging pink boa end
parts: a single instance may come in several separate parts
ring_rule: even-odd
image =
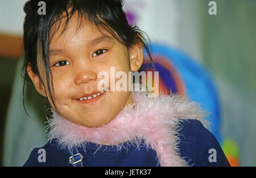
[[[189,166],[230,166],[214,135],[198,120],[180,120],[180,156]]]

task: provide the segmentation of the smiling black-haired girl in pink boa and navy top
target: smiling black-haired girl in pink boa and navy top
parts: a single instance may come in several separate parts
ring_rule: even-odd
[[[229,166],[196,103],[110,90],[112,67],[129,76],[142,66],[143,47],[150,56],[121,0],[48,0],[46,15],[38,2],[24,6],[23,67],[52,118],[48,142],[24,166]],[[109,83],[99,90],[102,71]]]

